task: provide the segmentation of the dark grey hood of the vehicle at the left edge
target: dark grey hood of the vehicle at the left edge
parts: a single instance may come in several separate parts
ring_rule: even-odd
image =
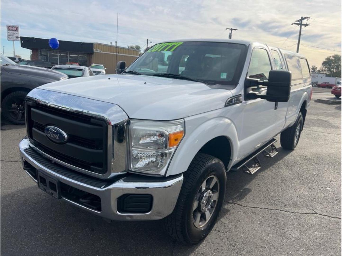
[[[38,76],[44,77],[47,79],[51,79],[52,81],[61,80],[61,78],[67,78],[67,75],[53,71],[51,69],[42,68],[42,67],[35,67],[35,66],[26,66],[26,65],[8,65],[2,66],[4,69],[11,74],[16,75],[25,75],[25,76]]]

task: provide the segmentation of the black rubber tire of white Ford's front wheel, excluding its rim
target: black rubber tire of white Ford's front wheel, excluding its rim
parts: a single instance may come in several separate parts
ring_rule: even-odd
[[[211,155],[198,153],[183,175],[184,181],[177,204],[172,214],[164,219],[165,229],[173,239],[183,244],[196,244],[206,238],[215,225],[224,201],[226,172],[220,159]],[[211,177],[215,177],[218,180],[218,182],[215,183],[219,188],[218,199],[217,201],[214,201],[216,203],[213,206],[211,217],[206,220],[207,222],[205,225],[197,228],[193,216],[195,211],[200,211],[199,207],[201,206],[199,205],[193,210],[194,203],[195,201],[198,202],[196,197],[201,191],[201,184],[206,180],[208,181],[211,179]],[[201,194],[203,193],[204,192]],[[197,212],[195,214],[197,214]],[[202,215],[206,215],[206,213],[201,213],[200,216]]]

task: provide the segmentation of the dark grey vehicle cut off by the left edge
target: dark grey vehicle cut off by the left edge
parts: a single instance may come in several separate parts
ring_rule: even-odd
[[[50,69],[17,65],[1,53],[1,113],[16,125],[25,125],[24,99],[26,94],[49,82],[68,76]]]

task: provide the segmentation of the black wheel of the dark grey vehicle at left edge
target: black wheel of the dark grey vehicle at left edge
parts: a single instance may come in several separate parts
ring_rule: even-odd
[[[27,93],[27,91],[11,92],[1,102],[1,113],[12,124],[25,125],[24,100]]]

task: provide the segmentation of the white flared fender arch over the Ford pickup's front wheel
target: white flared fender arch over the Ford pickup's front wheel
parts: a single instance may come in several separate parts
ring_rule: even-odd
[[[203,119],[208,119],[208,117],[196,116],[185,119],[185,136],[171,160],[166,176],[186,171],[202,146],[219,136],[225,136],[229,140],[231,144],[231,159],[235,159],[239,143],[237,131],[232,120],[226,117],[214,117],[201,123]],[[231,167],[231,164],[232,161],[229,161],[228,169]]]

